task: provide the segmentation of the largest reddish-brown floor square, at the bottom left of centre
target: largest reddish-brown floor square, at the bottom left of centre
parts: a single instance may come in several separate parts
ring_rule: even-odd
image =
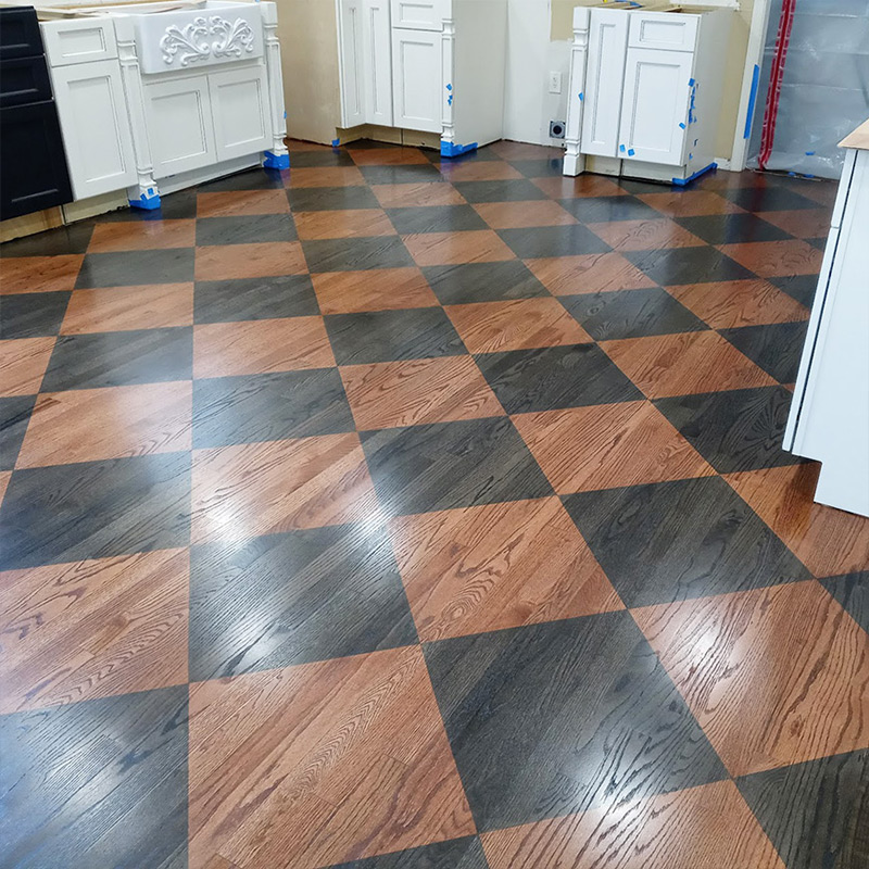
[[[474,832],[418,647],[191,689],[192,865],[314,869]]]

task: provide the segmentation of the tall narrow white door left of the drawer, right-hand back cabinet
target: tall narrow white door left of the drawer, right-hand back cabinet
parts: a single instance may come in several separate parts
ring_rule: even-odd
[[[617,156],[629,12],[593,9],[582,113],[582,153]]]

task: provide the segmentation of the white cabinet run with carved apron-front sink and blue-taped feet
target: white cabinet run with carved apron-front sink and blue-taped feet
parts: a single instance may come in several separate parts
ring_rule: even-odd
[[[126,188],[154,209],[161,187],[289,166],[274,2],[106,5],[40,28],[76,200]]]

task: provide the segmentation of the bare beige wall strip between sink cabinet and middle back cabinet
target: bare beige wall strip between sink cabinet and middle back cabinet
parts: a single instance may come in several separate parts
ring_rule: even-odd
[[[328,144],[341,124],[333,0],[276,0],[287,135]]]

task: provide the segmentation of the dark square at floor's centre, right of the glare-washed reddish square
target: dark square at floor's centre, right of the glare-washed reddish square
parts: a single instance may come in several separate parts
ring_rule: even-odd
[[[506,417],[365,431],[362,444],[387,515],[552,494]]]

